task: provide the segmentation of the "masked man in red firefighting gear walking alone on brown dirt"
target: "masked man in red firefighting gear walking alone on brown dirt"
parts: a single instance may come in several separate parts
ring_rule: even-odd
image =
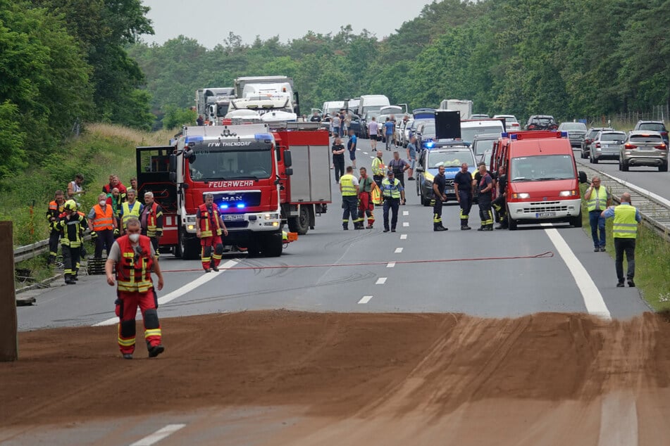
[[[118,347],[124,359],[132,359],[135,352],[135,313],[137,307],[144,321],[144,340],[149,357],[160,355],[165,348],[161,344],[161,324],[156,311],[158,299],[151,280],[151,271],[159,278],[159,291],[163,289],[163,274],[156,260],[156,252],[149,237],[140,235],[139,220],[128,219],[124,236],[112,246],[105,262],[105,274],[110,286],[116,285],[116,315],[118,324]],[[116,266],[116,278],[113,270]]]

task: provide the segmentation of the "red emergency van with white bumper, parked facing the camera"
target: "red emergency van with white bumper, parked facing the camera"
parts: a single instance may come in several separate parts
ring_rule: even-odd
[[[567,132],[503,133],[493,146],[490,169],[507,168],[509,229],[518,224],[568,222],[582,226],[579,183]]]

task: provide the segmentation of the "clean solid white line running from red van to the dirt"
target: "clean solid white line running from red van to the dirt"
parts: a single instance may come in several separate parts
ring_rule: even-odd
[[[586,311],[588,311],[589,314],[595,314],[602,319],[608,321],[612,320],[612,314],[609,314],[607,305],[605,305],[605,302],[602,299],[602,294],[600,294],[598,287],[593,283],[593,279],[591,279],[591,276],[588,274],[588,271],[586,271],[584,265],[581,264],[575,253],[572,252],[568,243],[566,243],[556,229],[545,229],[545,233],[552,243],[554,243],[554,247],[575,279],[577,287],[584,299]]]

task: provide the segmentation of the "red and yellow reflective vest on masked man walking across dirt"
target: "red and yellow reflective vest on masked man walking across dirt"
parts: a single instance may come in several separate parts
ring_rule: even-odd
[[[133,247],[128,236],[116,239],[120,248],[120,262],[116,265],[116,282],[118,291],[128,293],[146,293],[154,284],[151,282],[151,268],[154,257],[151,257],[151,239],[139,236],[137,246]]]

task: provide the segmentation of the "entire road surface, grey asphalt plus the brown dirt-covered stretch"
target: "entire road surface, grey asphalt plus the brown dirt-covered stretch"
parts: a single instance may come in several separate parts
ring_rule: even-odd
[[[104,276],[44,291],[18,308],[23,361],[0,364],[15,381],[0,390],[0,442],[663,444],[670,329],[636,288],[615,287],[612,258],[561,224],[459,231],[455,203],[449,231],[433,232],[406,184],[395,233],[380,209],[374,229],[342,231],[333,179],[328,212],[281,257],[225,255],[209,274],[161,257],[166,353],[151,361],[119,359]],[[68,377],[77,367],[87,391]],[[49,390],[55,376],[65,383]],[[104,409],[123,379],[135,409]]]

